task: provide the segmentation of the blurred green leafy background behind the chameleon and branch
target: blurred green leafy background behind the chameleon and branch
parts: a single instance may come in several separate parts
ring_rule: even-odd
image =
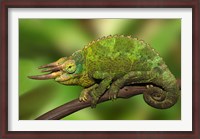
[[[148,42],[181,78],[180,19],[20,19],[19,20],[19,119],[30,120],[77,98],[79,86],[53,80],[31,80],[37,67],[70,56],[99,37],[124,34]],[[170,109],[147,105],[142,95],[85,108],[65,120],[179,120],[181,100]]]

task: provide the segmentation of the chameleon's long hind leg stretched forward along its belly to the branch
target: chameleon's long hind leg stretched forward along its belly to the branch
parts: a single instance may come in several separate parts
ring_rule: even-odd
[[[109,88],[109,98],[116,99],[119,90],[130,83],[149,83],[155,79],[157,74],[152,71],[131,71],[125,74],[123,77],[114,81]]]

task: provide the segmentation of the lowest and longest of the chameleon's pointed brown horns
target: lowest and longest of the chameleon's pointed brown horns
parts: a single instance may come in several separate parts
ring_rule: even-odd
[[[36,80],[47,80],[47,79],[54,79],[57,76],[61,75],[61,72],[53,72],[50,74],[44,74],[44,75],[35,75],[35,76],[28,76],[30,79],[36,79]]]

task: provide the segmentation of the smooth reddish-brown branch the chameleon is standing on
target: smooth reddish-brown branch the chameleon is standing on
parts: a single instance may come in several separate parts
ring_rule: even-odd
[[[181,88],[180,80],[177,80],[177,83]],[[127,99],[142,94],[146,90],[146,86],[125,86],[122,89],[120,89],[117,98]],[[108,100],[110,99],[108,93],[106,92],[99,99],[98,103],[102,103]],[[89,97],[88,101],[86,102],[80,102],[78,99],[75,99],[43,114],[42,116],[36,118],[36,120],[59,120],[65,116],[68,116],[76,111],[79,111],[89,106],[91,106],[91,97]]]

